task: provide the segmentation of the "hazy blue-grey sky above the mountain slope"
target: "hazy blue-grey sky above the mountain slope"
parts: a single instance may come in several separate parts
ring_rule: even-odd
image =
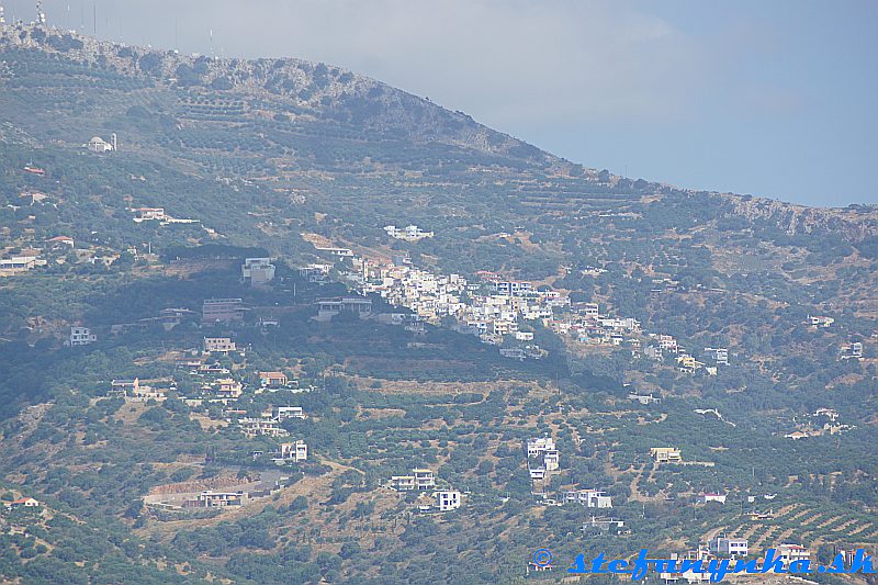
[[[32,1],[3,1],[33,20]],[[131,44],[347,67],[576,162],[878,203],[871,0],[45,0]]]

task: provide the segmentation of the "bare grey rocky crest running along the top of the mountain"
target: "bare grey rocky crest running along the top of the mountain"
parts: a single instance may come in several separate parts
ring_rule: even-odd
[[[203,90],[228,95],[241,92],[269,102],[283,101],[282,108],[288,109],[286,112],[275,111],[273,115],[271,108],[252,112],[252,119],[256,120],[277,122],[286,116],[291,121],[354,122],[368,132],[378,132],[390,138],[402,134],[417,142],[443,142],[486,154],[511,154],[553,171],[573,172],[593,181],[603,179],[609,184],[630,181],[621,176],[567,161],[477,123],[461,111],[451,111],[426,98],[323,63],[295,57],[239,59],[184,55],[176,50],[98,40],[38,24],[4,25],[0,30],[0,47],[41,50],[75,58],[90,66],[109,65],[121,75],[142,76],[177,90]],[[875,205],[859,205],[860,212],[852,214],[849,209],[854,206],[813,207],[763,196],[701,191],[654,181],[648,183],[656,190],[672,189],[720,196],[732,202],[733,215],[772,221],[791,235],[814,228],[840,228],[845,237],[859,241],[878,234],[878,206]],[[843,212],[845,209],[848,211]]]

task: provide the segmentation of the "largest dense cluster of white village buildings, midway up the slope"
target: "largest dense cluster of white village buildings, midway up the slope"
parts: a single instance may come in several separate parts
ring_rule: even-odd
[[[389,233],[390,228],[396,229],[387,226]],[[712,362],[708,365],[686,353],[671,335],[646,335],[634,317],[601,314],[598,303],[574,304],[567,295],[547,286],[506,280],[486,270],[476,272],[476,281],[471,282],[460,274],[437,274],[417,268],[407,257],[379,261],[345,251],[349,252],[345,257],[350,258],[352,269],[342,275],[363,295],[379,294],[392,305],[408,308],[424,323],[438,324],[452,317],[458,330],[477,335],[483,342],[498,346],[500,355],[509,359],[545,356],[545,351],[532,342],[530,322],[581,342],[629,347],[632,352],[642,352],[660,362],[673,356],[676,368],[685,373],[707,368],[708,373],[716,374],[717,367],[729,364],[725,348],[705,348],[705,359]],[[326,265],[312,265],[300,269],[300,273],[322,281],[328,270]],[[327,320],[345,311],[356,311],[363,316],[362,311],[367,314],[371,311],[371,306],[363,308],[367,303],[365,299],[356,302],[347,297],[319,300],[317,318]]]

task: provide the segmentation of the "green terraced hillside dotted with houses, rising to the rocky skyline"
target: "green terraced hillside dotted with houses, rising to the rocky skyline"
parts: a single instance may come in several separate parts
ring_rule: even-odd
[[[323,64],[0,49],[0,574],[878,552],[874,212],[790,234]]]

